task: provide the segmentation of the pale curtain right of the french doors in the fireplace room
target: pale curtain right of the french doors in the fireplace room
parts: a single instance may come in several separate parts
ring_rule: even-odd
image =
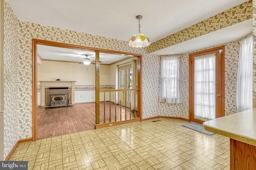
[[[135,89],[137,88],[137,60],[132,60],[132,88]],[[134,108],[134,98],[136,98],[136,92],[135,91],[132,91],[132,94],[131,94],[131,109],[132,110],[136,110],[136,108]]]

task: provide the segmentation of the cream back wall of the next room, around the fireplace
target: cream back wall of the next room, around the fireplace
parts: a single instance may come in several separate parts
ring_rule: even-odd
[[[110,85],[110,72],[108,65],[100,64],[100,85]],[[38,64],[38,81],[72,80],[76,81],[76,86],[95,85],[95,65],[88,66],[78,63],[41,61]],[[114,74],[115,76],[115,74]],[[38,82],[40,85],[40,82]],[[108,97],[107,97],[108,95]],[[40,106],[41,93],[38,92],[38,105]],[[100,101],[103,101],[104,94],[100,95]],[[109,100],[109,94],[105,96]],[[75,103],[95,102],[95,90],[75,91]]]

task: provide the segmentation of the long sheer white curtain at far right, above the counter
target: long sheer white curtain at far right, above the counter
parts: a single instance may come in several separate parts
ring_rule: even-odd
[[[252,35],[240,41],[236,86],[237,111],[252,108]]]

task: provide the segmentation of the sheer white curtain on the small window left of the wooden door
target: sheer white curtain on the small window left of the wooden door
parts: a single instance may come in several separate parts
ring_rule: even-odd
[[[179,56],[161,58],[160,102],[182,103]]]

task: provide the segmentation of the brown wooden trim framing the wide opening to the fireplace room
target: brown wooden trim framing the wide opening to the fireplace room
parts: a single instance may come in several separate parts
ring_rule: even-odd
[[[138,58],[138,117],[142,121],[142,55],[135,53],[126,53],[122,51],[113,51],[106,49],[97,49],[92,47],[84,47],[80,45],[72,45],[66,43],[58,43],[54,41],[46,41],[41,39],[32,39],[32,141],[37,139],[37,47],[36,45],[48,45],[53,47],[63,47],[68,49],[78,49],[86,51],[99,51],[108,54],[124,54]],[[95,73],[96,74],[96,73]]]

